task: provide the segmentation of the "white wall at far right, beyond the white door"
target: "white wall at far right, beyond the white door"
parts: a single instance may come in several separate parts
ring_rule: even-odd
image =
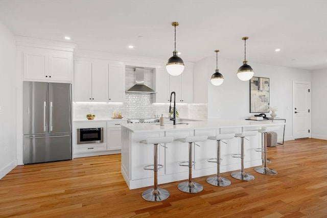
[[[311,74],[311,137],[327,139],[327,68]]]

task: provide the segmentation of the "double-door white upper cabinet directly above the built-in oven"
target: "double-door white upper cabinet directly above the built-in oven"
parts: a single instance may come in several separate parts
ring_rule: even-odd
[[[74,62],[74,100],[107,102],[108,65],[76,60]]]

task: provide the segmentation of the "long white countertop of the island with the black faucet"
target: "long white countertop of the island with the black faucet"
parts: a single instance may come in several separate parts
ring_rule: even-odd
[[[281,126],[284,123],[274,123],[270,120],[244,120],[244,119],[219,119],[209,118],[208,120],[192,122],[176,122],[177,125],[166,124],[160,126],[159,123],[147,124],[121,124],[133,133],[142,132],[162,132],[162,131],[181,131],[181,130],[201,130],[219,128],[240,128],[240,127],[262,127],[262,126]]]

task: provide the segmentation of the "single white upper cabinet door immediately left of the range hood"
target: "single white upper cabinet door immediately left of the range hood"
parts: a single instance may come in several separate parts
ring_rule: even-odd
[[[108,75],[108,99],[109,102],[125,101],[125,67],[109,64]]]

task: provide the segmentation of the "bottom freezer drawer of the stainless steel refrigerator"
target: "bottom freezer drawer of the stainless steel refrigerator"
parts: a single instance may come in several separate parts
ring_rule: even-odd
[[[72,159],[72,134],[25,135],[23,163]]]

